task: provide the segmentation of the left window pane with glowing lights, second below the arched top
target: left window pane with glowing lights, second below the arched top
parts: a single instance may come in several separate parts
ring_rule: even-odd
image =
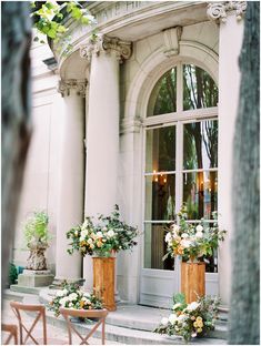
[[[174,174],[145,176],[145,220],[173,220]]]

